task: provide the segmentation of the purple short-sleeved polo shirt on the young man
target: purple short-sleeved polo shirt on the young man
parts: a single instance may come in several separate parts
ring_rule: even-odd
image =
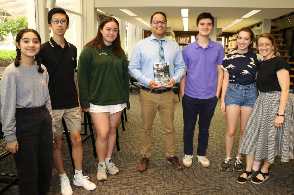
[[[186,45],[182,51],[188,68],[185,94],[198,99],[209,99],[216,96],[217,65],[224,58],[223,46],[212,40],[203,49],[198,42]]]

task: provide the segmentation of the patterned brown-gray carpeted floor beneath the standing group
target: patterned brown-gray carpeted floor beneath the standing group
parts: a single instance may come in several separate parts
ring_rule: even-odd
[[[198,124],[194,136],[194,160],[192,167],[176,170],[166,163],[165,148],[162,136],[162,125],[158,114],[153,125],[151,161],[146,172],[138,172],[140,157],[140,104],[138,93],[130,94],[131,109],[127,111],[128,122],[125,123],[126,131],[122,131],[121,123],[118,124],[120,151],[116,148],[113,152],[113,162],[119,168],[118,175],[108,175],[105,182],[96,179],[98,159],[93,158],[91,141],[83,144],[84,160],[83,173],[90,177],[90,181],[97,185],[97,189],[87,191],[72,183],[73,173],[71,160],[66,142],[64,142],[64,166],[71,179],[74,194],[293,194],[294,193],[294,160],[281,163],[276,157],[271,166],[270,177],[263,184],[253,184],[250,179],[246,184],[238,184],[240,172],[220,170],[220,164],[225,157],[225,131],[226,119],[216,107],[211,121],[210,137],[206,157],[211,166],[201,167],[197,163],[196,148],[198,138]],[[176,129],[176,156],[182,162],[183,158],[183,114],[182,105],[176,95],[175,100]],[[239,132],[235,136],[232,158],[235,158],[238,149]],[[232,160],[234,162],[234,160]],[[243,158],[243,165],[246,160]],[[245,167],[244,167],[245,168]],[[13,158],[0,163],[0,172],[16,174]],[[257,173],[253,173],[255,176]],[[0,188],[3,184],[0,184]],[[18,194],[18,187],[14,185],[5,194]],[[61,194],[60,181],[55,167],[52,167],[51,189],[49,194]]]

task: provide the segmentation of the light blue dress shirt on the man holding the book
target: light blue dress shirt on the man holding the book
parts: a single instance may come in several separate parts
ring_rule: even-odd
[[[159,60],[159,42],[155,41],[153,34],[146,39],[138,41],[133,49],[129,63],[130,75],[139,81],[139,84],[149,87],[151,80],[154,80],[153,63]],[[176,83],[180,82],[185,75],[185,62],[178,43],[164,36],[162,41],[164,50],[164,61],[169,62],[170,78]],[[172,71],[174,70],[174,71]],[[164,87],[159,90],[165,89]]]

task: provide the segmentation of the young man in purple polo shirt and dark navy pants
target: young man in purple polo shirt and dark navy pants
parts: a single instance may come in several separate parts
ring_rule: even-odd
[[[193,159],[193,136],[199,114],[199,135],[197,158],[203,167],[209,167],[206,156],[209,126],[223,83],[221,64],[224,58],[223,46],[213,42],[209,35],[214,18],[210,13],[201,13],[197,18],[199,37],[186,45],[182,51],[186,74],[181,78],[181,96],[184,119],[183,164],[191,167]]]

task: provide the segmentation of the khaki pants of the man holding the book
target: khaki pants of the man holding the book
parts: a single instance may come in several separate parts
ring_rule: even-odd
[[[175,156],[175,130],[173,127],[173,117],[175,114],[175,94],[173,90],[165,93],[155,94],[140,90],[141,104],[141,156],[151,157],[151,133],[152,125],[158,110],[161,123],[163,124],[163,140],[166,147],[166,156]]]

